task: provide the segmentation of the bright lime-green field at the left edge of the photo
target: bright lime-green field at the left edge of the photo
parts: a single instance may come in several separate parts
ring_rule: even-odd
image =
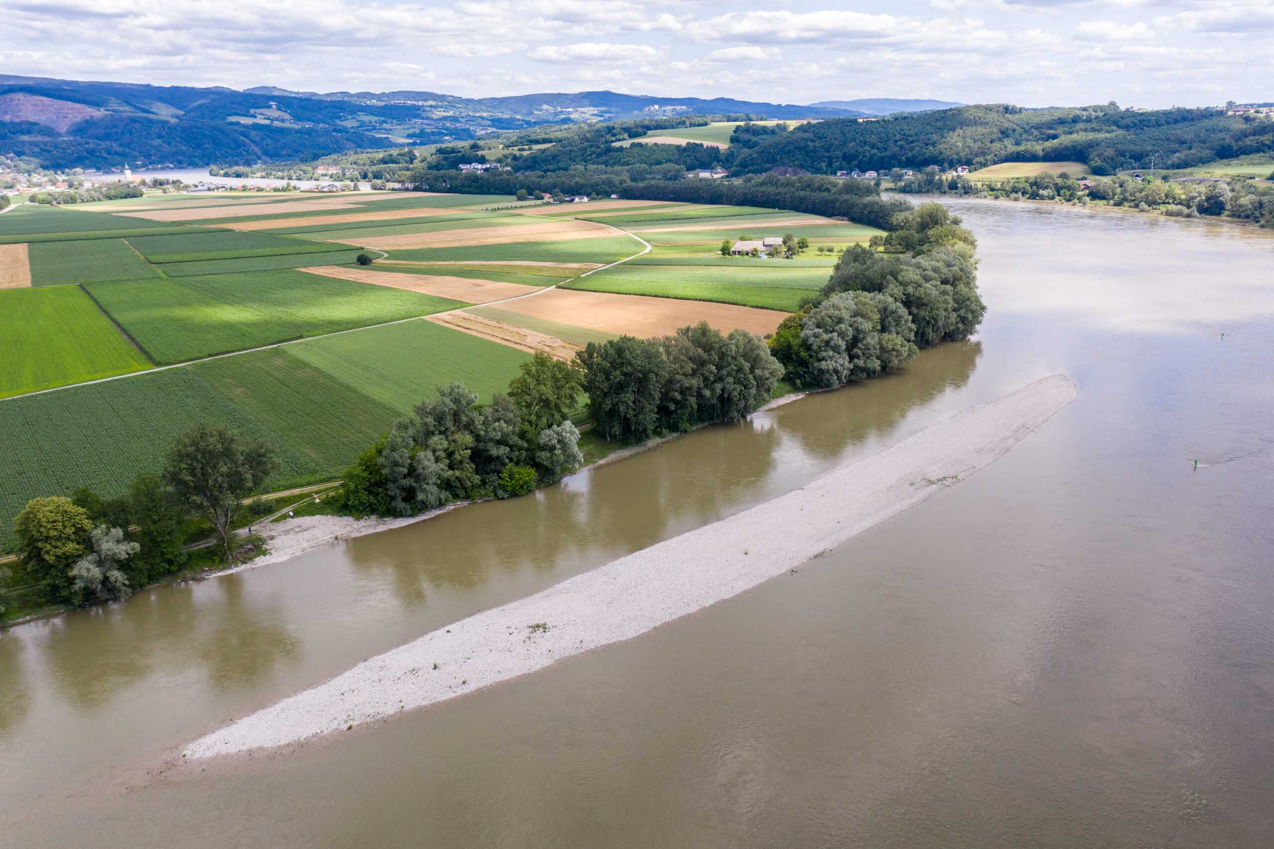
[[[150,367],[78,286],[3,291],[0,315],[0,398]]]

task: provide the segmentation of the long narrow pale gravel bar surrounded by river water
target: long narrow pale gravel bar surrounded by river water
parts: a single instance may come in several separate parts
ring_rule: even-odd
[[[194,741],[182,756],[233,755],[347,730],[638,636],[954,486],[1075,396],[1074,381],[1064,375],[1038,380],[800,490],[364,660]]]

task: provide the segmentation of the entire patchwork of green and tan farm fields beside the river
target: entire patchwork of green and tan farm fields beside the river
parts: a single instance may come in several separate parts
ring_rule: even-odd
[[[0,547],[29,497],[115,495],[199,422],[268,440],[282,468],[266,486],[299,486],[339,474],[440,384],[503,391],[527,351],[568,359],[701,319],[771,333],[834,255],[717,247],[785,232],[843,246],[875,231],[752,207],[423,192],[15,209],[0,217],[0,287],[23,287],[0,288]],[[176,367],[127,374],[154,365]]]

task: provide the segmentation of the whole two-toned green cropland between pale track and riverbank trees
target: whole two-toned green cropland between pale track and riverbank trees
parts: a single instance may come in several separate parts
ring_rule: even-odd
[[[139,472],[158,472],[194,424],[269,441],[282,468],[266,488],[301,486],[339,474],[437,385],[464,380],[489,399],[526,358],[410,321],[0,403],[0,547],[13,544],[29,498],[79,486],[117,495]]]

